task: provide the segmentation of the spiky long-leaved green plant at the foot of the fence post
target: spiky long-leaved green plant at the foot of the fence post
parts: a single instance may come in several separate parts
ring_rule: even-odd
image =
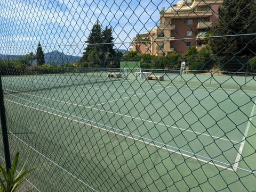
[[[20,172],[15,176],[15,172],[17,171],[17,166],[18,166],[18,161],[19,161],[19,153],[16,154],[14,157],[12,167],[9,169],[9,171],[5,171],[5,166],[1,165],[0,166],[0,173],[2,174],[3,177],[0,178],[0,191],[1,192],[15,192],[18,190],[20,185],[25,181],[25,177],[27,174],[36,168],[30,169],[30,170],[25,170],[25,165],[28,161],[25,161],[23,164]]]

